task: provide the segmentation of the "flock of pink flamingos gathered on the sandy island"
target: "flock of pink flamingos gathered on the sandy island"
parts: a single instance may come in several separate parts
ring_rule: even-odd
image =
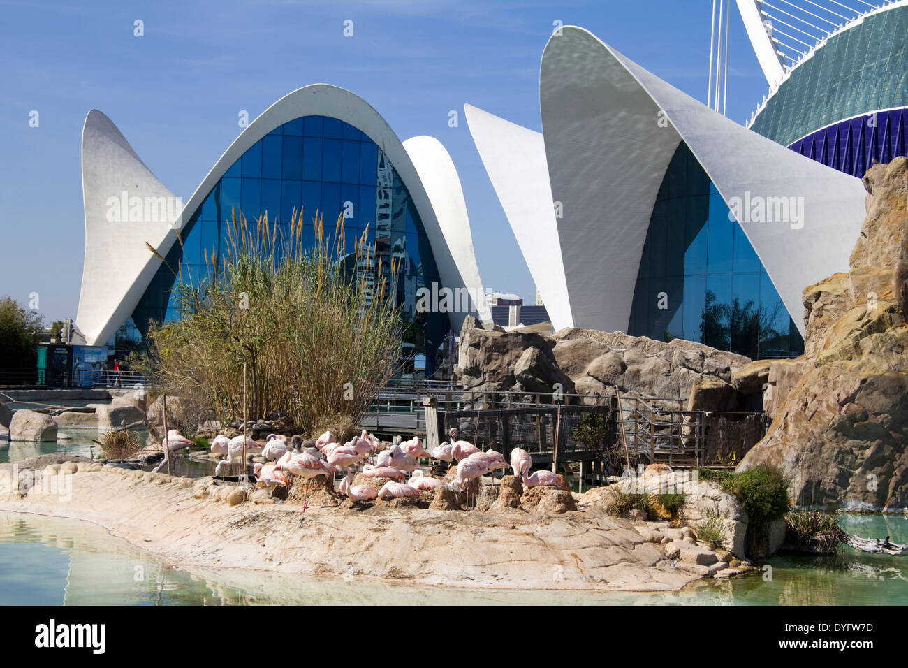
[[[433,491],[437,487],[447,486],[456,492],[466,490],[468,506],[469,494],[475,494],[482,476],[507,469],[508,465],[527,487],[555,485],[559,482],[558,474],[545,469],[529,474],[533,459],[526,450],[514,448],[508,464],[504,455],[495,450],[482,451],[467,441],[456,440],[456,429],[451,429],[449,434],[450,441],[440,444],[431,452],[423,449],[418,436],[409,441],[401,441],[398,436],[390,448],[382,450],[380,440],[375,435],[368,434],[365,429],[345,444],[338,443],[331,432],[325,432],[316,439],[314,447],[305,447],[299,435],[288,439],[287,436],[269,434],[262,445],[248,436],[227,438],[218,434],[212,440],[211,450],[212,453],[224,455],[224,459],[218,462],[214,475],[223,476],[232,464],[240,464],[245,448],[245,454],[258,455],[266,460],[267,464],[255,464],[252,470],[256,483],[267,489],[269,495],[275,487],[288,489],[291,486],[291,480],[288,480],[286,474],[301,478],[326,475],[333,481],[334,474],[345,472],[340,491],[353,502],[417,496],[421,491]],[[178,430],[172,429],[164,437],[162,446],[169,456],[192,444]],[[456,475],[449,483],[431,477],[419,469],[419,458],[449,464],[456,462]],[[353,484],[353,476],[357,471],[367,477],[390,478],[390,481],[378,490],[370,484]],[[308,499],[305,503],[308,503]]]

